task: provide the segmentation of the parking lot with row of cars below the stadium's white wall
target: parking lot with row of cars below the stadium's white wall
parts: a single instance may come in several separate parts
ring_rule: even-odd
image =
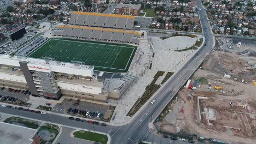
[[[73,100],[73,99],[71,101],[70,99],[64,99],[61,104],[56,104],[53,107],[53,112],[65,113],[64,110],[69,109],[69,107],[71,107],[72,109],[97,112],[97,113],[100,112],[105,114],[109,107],[108,105],[89,103],[87,101],[79,101],[79,105],[74,105],[76,101],[77,100]]]

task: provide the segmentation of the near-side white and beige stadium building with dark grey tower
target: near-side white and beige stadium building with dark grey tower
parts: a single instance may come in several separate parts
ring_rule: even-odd
[[[65,95],[106,103],[119,99],[134,79],[105,79],[93,66],[81,63],[0,55],[0,86],[29,89],[35,97],[57,100]]]

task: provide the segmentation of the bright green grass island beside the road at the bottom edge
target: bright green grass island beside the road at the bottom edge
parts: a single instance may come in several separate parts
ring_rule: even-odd
[[[102,144],[106,144],[108,141],[108,137],[106,135],[92,133],[90,131],[75,131],[73,133],[74,137],[84,139],[84,140],[90,140],[94,142],[100,142]]]

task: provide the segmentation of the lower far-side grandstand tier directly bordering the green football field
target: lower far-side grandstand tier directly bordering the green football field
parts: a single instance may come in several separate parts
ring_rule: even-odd
[[[69,25],[57,26],[53,35],[66,38],[111,40],[133,44],[139,44],[141,37],[141,33],[133,31]]]

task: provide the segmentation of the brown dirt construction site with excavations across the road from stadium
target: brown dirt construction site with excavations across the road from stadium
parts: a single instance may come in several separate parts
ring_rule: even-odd
[[[256,143],[255,44],[223,38],[216,43],[155,125],[170,134]]]

